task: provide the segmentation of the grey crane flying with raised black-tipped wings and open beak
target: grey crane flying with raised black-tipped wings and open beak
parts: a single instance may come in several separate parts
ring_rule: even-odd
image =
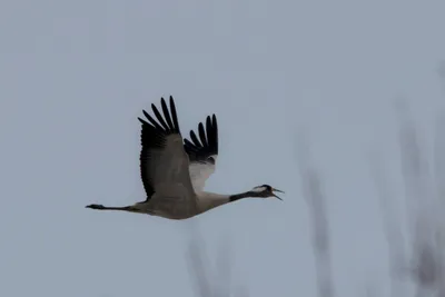
[[[284,191],[269,185],[254,187],[249,191],[235,195],[204,191],[206,180],[215,171],[218,156],[216,116],[207,117],[206,128],[202,122],[199,122],[199,139],[195,131],[190,130],[190,141],[182,139],[174,98],[170,96],[170,110],[164,98],[160,102],[164,117],[158,108],[151,105],[158,121],[145,110],[142,113],[148,121],[138,118],[142,123],[140,176],[147,199],[125,207],[93,204],[86,206],[87,208],[123,210],[180,220],[247,197],[276,197],[283,200],[274,191]]]

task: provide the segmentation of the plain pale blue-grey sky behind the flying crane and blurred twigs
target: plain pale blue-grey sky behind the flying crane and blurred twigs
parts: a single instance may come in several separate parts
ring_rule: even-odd
[[[426,128],[443,106],[444,11],[439,0],[2,1],[0,295],[194,296],[187,222],[83,208],[145,198],[137,117],[169,95],[182,131],[218,116],[208,190],[286,191],[194,219],[210,255],[230,238],[251,296],[315,296],[300,125],[326,180],[339,296],[386,286],[364,156],[383,150],[396,175],[392,100],[407,98]]]

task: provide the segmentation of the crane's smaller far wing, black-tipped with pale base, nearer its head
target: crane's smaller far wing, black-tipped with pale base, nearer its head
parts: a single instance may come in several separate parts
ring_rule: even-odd
[[[218,123],[212,115],[204,123],[198,125],[199,139],[195,131],[190,131],[190,140],[184,139],[190,165],[190,176],[196,192],[202,191],[206,180],[215,172],[216,159],[218,156]]]

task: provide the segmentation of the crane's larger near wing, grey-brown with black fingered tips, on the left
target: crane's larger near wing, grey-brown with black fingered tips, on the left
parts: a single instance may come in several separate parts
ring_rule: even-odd
[[[156,202],[168,204],[172,208],[191,204],[196,195],[188,170],[189,160],[184,149],[175,102],[170,96],[170,111],[161,98],[164,118],[155,105],[151,109],[156,121],[144,110],[148,119],[139,119],[142,123],[140,152],[140,175],[147,192],[147,200],[156,197]],[[155,195],[156,194],[156,195]],[[165,200],[165,201],[158,201]],[[167,201],[168,200],[168,201]],[[196,201],[196,200],[195,200]],[[172,209],[176,211],[179,209]]]

